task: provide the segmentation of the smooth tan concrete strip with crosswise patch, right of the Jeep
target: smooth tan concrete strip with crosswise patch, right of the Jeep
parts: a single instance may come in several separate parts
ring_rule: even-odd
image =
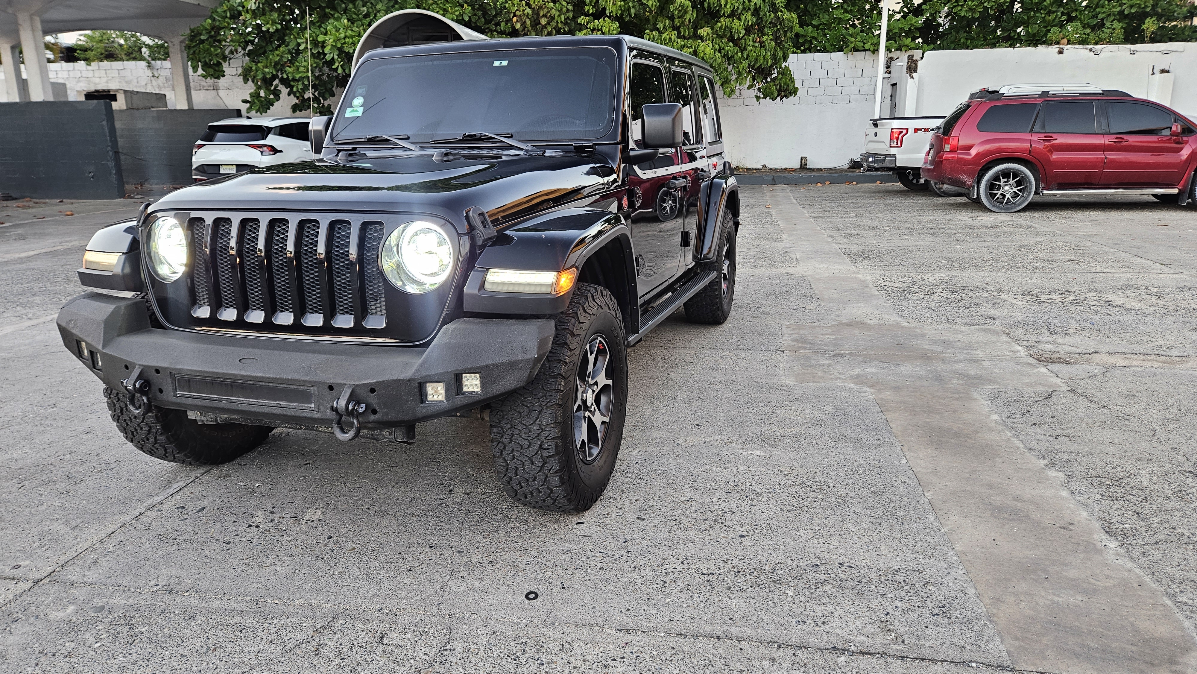
[[[788,326],[791,378],[873,393],[1014,666],[1191,672],[1197,643],[1173,606],[974,394],[1067,384],[997,328],[887,321],[893,310],[792,193],[772,201],[800,269],[840,303],[837,323]]]

